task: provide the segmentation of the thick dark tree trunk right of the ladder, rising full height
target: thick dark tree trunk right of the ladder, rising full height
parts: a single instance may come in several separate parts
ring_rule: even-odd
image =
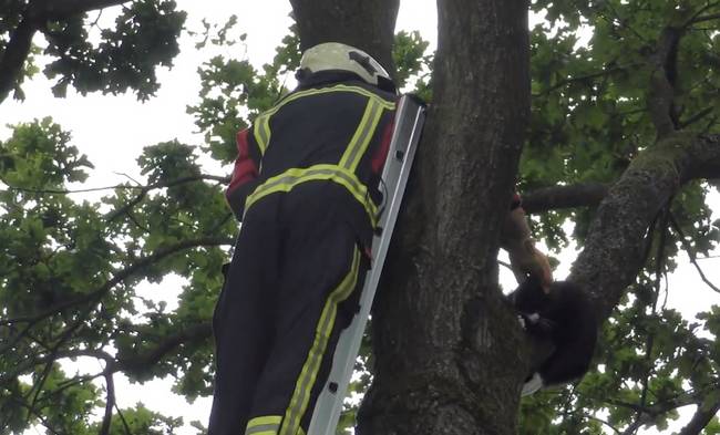
[[[376,303],[361,435],[515,433],[525,355],[495,258],[528,118],[527,6],[438,7],[434,100]]]

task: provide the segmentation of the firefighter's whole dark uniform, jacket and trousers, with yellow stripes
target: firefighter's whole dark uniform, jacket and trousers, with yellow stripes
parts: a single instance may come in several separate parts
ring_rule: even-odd
[[[394,110],[353,74],[319,73],[238,134],[209,435],[307,432],[370,265]]]

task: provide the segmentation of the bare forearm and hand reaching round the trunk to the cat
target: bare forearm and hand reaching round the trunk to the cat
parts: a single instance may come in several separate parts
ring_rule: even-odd
[[[523,282],[528,275],[541,278],[543,288],[547,291],[553,281],[547,257],[536,247],[531,237],[525,210],[520,201],[513,205],[507,214],[501,232],[501,247],[510,256],[511,267],[517,282]]]

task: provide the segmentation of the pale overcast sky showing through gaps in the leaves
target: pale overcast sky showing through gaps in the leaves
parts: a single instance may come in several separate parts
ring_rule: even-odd
[[[179,9],[188,12],[187,25],[195,30],[199,30],[202,18],[223,23],[229,15],[237,14],[239,31],[248,34],[246,45],[236,45],[225,54],[236,58],[247,56],[258,68],[271,61],[275,48],[291,23],[288,18],[290,11],[288,1],[177,0],[177,3]],[[105,12],[103,15],[106,18],[112,14]],[[431,42],[431,50],[434,50],[435,20],[434,1],[404,0],[401,2],[398,30],[420,30]],[[72,144],[86,154],[95,165],[95,170],[91,174],[86,186],[105,186],[124,182],[125,179],[117,175],[119,173],[141,178],[135,158],[144,146],[173,138],[188,144],[202,143],[202,137],[194,134],[193,118],[185,113],[185,107],[197,102],[199,81],[196,70],[214,53],[198,53],[193,46],[193,41],[187,35],[183,37],[182,53],[176,58],[175,66],[169,71],[158,72],[162,89],[155,99],[146,103],[137,102],[132,94],[120,96],[92,94],[82,97],[70,90],[68,99],[58,100],[51,94],[51,83],[39,74],[23,86],[27,94],[25,102],[8,100],[0,105],[0,139],[9,135],[7,124],[52,116],[56,123],[72,132]],[[214,170],[224,169],[214,168]],[[710,200],[713,208],[720,210],[720,195],[717,191]],[[720,215],[716,214],[714,218],[720,218]],[[716,252],[718,253],[720,252]],[[567,275],[574,256],[573,249],[568,249],[563,256],[559,270],[556,271],[556,278]],[[701,261],[701,266],[704,267],[710,279],[720,283],[720,267],[718,267],[720,260],[704,260]],[[508,271],[502,271],[502,279],[506,286],[512,286],[512,276]],[[670,288],[672,292],[668,298],[668,304],[678,308],[689,318],[692,318],[699,309],[707,309],[711,303],[720,303],[720,297],[699,280],[697,272],[687,261],[683,261],[678,271],[670,277]],[[164,283],[145,286],[142,292],[143,296],[153,299],[163,299],[172,297],[176,289],[168,289]],[[171,301],[168,308],[173,305]],[[91,364],[95,370],[97,369],[96,362],[92,361]],[[186,423],[199,420],[203,424],[207,424],[209,398],[198,400],[192,405],[187,404],[183,397],[168,394],[171,381],[156,381],[138,387],[130,386],[123,376],[119,375],[116,382],[117,402],[121,407],[143,402],[151,410],[165,415],[183,416]],[[679,425],[682,423],[680,422]],[[35,433],[42,432],[29,432],[29,434]],[[192,428],[178,432],[179,435],[194,433],[195,429]]]

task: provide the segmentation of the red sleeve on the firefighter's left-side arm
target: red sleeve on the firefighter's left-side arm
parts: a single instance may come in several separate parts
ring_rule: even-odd
[[[235,159],[230,185],[225,190],[225,198],[237,220],[243,220],[245,200],[258,184],[257,177],[261,155],[251,128],[239,132],[236,137],[236,144],[237,158]]]

